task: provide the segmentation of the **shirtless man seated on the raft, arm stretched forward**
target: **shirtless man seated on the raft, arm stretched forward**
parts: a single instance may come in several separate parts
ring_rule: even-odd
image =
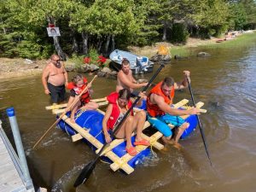
[[[131,90],[131,96],[137,96],[138,92],[134,91],[133,89],[139,89],[147,84],[148,83],[138,84],[137,80],[132,76],[130,62],[126,59],[122,61],[122,68],[117,76],[116,92],[126,88]]]

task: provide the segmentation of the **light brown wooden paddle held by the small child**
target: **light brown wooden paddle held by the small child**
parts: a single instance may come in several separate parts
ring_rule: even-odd
[[[96,79],[96,77],[97,77],[97,76],[94,76],[94,78],[90,81],[89,84],[92,84],[92,82],[94,81],[94,79]],[[70,109],[72,109],[73,106],[74,106],[77,102],[79,102],[80,96],[82,96],[86,90],[88,90],[87,86],[84,88],[84,90],[81,91],[81,93],[79,94],[79,96],[76,96],[76,97],[74,98],[74,100],[73,100],[73,102],[71,103],[71,105],[70,105],[69,107],[67,107],[67,109],[66,109],[63,113],[61,113],[60,117],[55,121],[55,123],[54,123],[53,125],[51,125],[47,131],[44,132],[44,135],[39,138],[39,140],[38,140],[37,143],[34,144],[33,149],[36,148],[37,145],[38,145],[38,143],[40,143],[40,142],[44,139],[44,137],[46,136],[46,134],[47,134],[57,123],[59,123],[59,121],[60,121],[61,118],[67,113],[67,111],[69,111]]]

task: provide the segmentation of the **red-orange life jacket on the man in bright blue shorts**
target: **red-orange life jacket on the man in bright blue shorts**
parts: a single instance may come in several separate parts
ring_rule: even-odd
[[[159,116],[159,115],[163,115],[165,114],[165,112],[163,112],[159,107],[158,105],[156,104],[153,104],[150,102],[150,96],[152,93],[158,95],[158,96],[162,96],[164,99],[165,99],[165,102],[168,104],[168,105],[171,105],[172,104],[172,99],[174,97],[174,86],[172,86],[172,90],[171,90],[171,94],[170,96],[166,96],[162,89],[161,89],[161,84],[162,84],[162,81],[158,84],[156,84],[154,86],[154,88],[152,90],[150,90],[149,94],[148,94],[148,97],[147,97],[147,111],[148,113],[152,116],[152,117],[156,117],[156,116]]]

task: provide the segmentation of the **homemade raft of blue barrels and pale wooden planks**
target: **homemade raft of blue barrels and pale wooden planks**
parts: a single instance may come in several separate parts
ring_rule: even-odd
[[[107,105],[108,102],[104,102],[103,100],[97,100],[104,105]],[[177,102],[172,105],[172,108],[190,108],[185,107],[185,105],[189,102],[189,100],[183,99],[181,102]],[[196,107],[201,108],[203,106],[203,102],[198,102]],[[65,105],[60,105],[65,108]],[[66,105],[67,106],[67,105]],[[102,106],[102,104],[100,104]],[[145,106],[142,106],[145,108]],[[54,106],[53,113],[62,113],[64,111],[63,108],[58,109],[58,106]],[[56,111],[57,110],[57,111]],[[143,109],[137,109],[143,110]],[[135,109],[136,111],[136,109]],[[58,123],[58,127],[67,132],[69,136],[72,137],[73,142],[83,140],[84,143],[87,143],[90,148],[96,152],[102,148],[105,143],[105,137],[102,132],[102,119],[104,117],[104,112],[100,109],[98,110],[88,110],[88,111],[78,111],[75,117],[75,123],[71,123],[69,118],[70,113],[67,113],[62,117],[61,121]],[[187,122],[189,122],[189,128],[183,132],[181,139],[189,137],[191,132],[195,131],[197,120],[195,115],[186,115],[182,117]],[[173,131],[176,129],[173,125],[169,125]],[[145,122],[143,127],[142,137],[151,144],[154,148],[161,150],[164,148],[164,145],[158,140],[162,137],[162,133],[154,129],[148,121]],[[131,137],[132,143],[135,141],[136,135],[133,134]],[[125,151],[126,142],[125,139],[113,139],[111,143],[109,143],[108,147],[106,147],[102,152],[102,160],[108,161],[110,163],[110,168],[113,172],[117,170],[122,170],[126,174],[131,174],[134,172],[134,168],[137,166],[139,162],[143,162],[143,159],[151,154],[150,146],[136,146],[137,155],[131,156],[127,154]]]

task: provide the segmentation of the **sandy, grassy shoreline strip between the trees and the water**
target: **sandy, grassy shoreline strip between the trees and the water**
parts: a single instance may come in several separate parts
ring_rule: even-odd
[[[244,39],[241,37],[247,38],[250,40],[250,37],[247,34],[253,34],[253,38],[256,38],[256,32],[253,33],[242,33],[238,37],[225,41],[224,43],[217,44],[216,41],[219,38],[211,38],[207,40],[202,40],[200,38],[189,38],[187,44],[184,45],[173,45],[166,42],[156,43],[152,46],[145,46],[143,48],[130,46],[128,49],[137,54],[137,55],[145,55],[149,58],[156,54],[160,45],[165,45],[172,54],[172,58],[174,55],[182,55],[188,56],[189,49],[193,49],[196,47],[225,47],[225,45],[230,44],[230,46],[239,46],[240,42],[244,43]],[[241,40],[239,40],[241,38]],[[66,64],[71,64],[71,61],[66,61]],[[38,60],[33,61],[32,63],[27,63],[25,59],[22,58],[0,58],[0,81],[4,79],[11,78],[22,78],[27,76],[38,75],[43,72],[43,69],[46,65],[46,60]]]

